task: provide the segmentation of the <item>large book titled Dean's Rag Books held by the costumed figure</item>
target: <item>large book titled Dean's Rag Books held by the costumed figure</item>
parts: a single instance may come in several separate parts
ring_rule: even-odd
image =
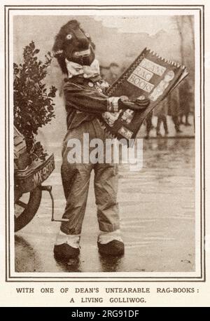
[[[133,111],[128,108],[115,113],[106,111],[99,120],[113,137],[134,139],[146,116],[169,95],[188,75],[186,67],[165,60],[145,48],[125,72],[106,90],[109,97],[126,95],[131,101],[148,98],[151,103],[146,109]]]

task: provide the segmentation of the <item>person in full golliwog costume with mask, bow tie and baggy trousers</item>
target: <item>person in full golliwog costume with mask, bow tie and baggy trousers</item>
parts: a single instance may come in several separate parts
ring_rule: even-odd
[[[127,97],[108,97],[104,94],[108,84],[99,76],[99,63],[94,58],[94,43],[80,28],[76,20],[64,25],[52,48],[67,78],[64,83],[67,132],[62,149],[62,184],[66,207],[60,231],[54,247],[59,259],[77,257],[80,253],[82,230],[90,173],[94,170],[94,193],[99,223],[98,248],[101,254],[122,255],[124,243],[120,236],[120,222],[117,203],[118,166],[114,163],[69,163],[69,140],[79,139],[82,151],[83,134],[91,139],[105,139],[109,135],[97,119],[105,111],[127,109]],[[142,109],[148,101],[137,102],[135,109]],[[105,144],[104,144],[105,145]],[[90,150],[91,151],[91,150]]]

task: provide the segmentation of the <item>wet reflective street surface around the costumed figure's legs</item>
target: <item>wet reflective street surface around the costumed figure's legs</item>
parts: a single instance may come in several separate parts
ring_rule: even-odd
[[[56,170],[52,184],[55,213],[65,201],[54,146]],[[144,139],[144,168],[130,172],[120,165],[118,200],[125,256],[101,257],[98,224],[90,184],[80,257],[68,264],[55,261],[53,245],[59,223],[51,222],[48,193],[31,223],[15,235],[17,272],[181,272],[195,271],[195,140]],[[91,182],[92,183],[92,182]]]

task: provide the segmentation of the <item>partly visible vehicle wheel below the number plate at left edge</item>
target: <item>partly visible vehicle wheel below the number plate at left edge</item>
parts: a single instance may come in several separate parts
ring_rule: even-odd
[[[15,232],[29,224],[38,211],[41,202],[41,189],[36,187],[30,193],[24,193],[15,202]]]

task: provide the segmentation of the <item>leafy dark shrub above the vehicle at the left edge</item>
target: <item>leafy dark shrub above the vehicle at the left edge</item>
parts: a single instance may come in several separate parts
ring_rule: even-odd
[[[39,49],[34,41],[23,51],[22,64],[13,64],[14,72],[14,125],[25,136],[27,151],[32,155],[45,158],[43,146],[36,142],[38,128],[49,123],[54,114],[54,103],[57,88],[46,88],[43,82],[52,57],[45,55],[45,62],[38,60]]]

